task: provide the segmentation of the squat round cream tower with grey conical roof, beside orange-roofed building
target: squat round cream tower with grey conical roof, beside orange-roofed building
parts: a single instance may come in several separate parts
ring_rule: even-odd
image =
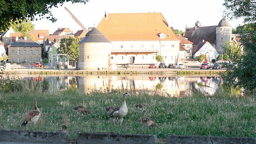
[[[112,43],[104,37],[104,34],[94,27],[78,44],[79,69],[108,69]]]

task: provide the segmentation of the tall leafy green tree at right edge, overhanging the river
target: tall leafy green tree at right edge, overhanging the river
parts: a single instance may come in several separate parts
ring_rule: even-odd
[[[256,0],[225,0],[223,4],[230,19],[243,18],[244,23],[251,23],[252,29],[240,32],[240,47],[243,52],[234,53],[233,63],[222,73],[224,86],[244,88],[245,91],[256,91]],[[240,55],[240,58],[239,58]],[[237,57],[237,58],[236,58]]]

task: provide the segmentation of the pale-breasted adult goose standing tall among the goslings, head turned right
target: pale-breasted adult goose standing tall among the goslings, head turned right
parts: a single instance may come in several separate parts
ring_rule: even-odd
[[[113,119],[114,126],[116,126],[116,118],[120,118],[120,126],[122,126],[122,119],[128,113],[128,108],[126,106],[126,97],[127,96],[131,96],[131,94],[129,94],[127,92],[124,93],[123,94],[123,103],[122,103],[122,105],[120,107],[115,108],[113,110],[113,112],[110,114],[111,117],[114,117],[114,119]]]

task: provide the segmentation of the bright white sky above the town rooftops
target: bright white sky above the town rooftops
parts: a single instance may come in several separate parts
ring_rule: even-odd
[[[107,13],[147,13],[161,12],[166,21],[175,29],[184,31],[185,27],[194,27],[197,20],[202,26],[218,25],[223,18],[224,0],[89,0],[83,3],[64,3],[63,6],[52,8],[52,14],[57,19],[52,23],[48,19],[32,21],[35,29],[48,29],[52,34],[58,27],[70,28],[73,33],[82,28],[64,9],[71,13],[85,26],[97,27]],[[229,20],[235,28],[243,25],[243,19]]]

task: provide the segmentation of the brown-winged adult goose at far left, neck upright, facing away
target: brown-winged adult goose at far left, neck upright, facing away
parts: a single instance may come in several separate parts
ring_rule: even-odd
[[[27,116],[24,119],[24,122],[21,124],[21,126],[26,125],[27,128],[28,128],[28,124],[33,123],[33,126],[35,127],[35,124],[36,124],[36,122],[38,121],[38,119],[41,115],[41,112],[40,112],[40,110],[38,109],[38,107],[36,105],[36,99],[34,99],[34,106],[35,106],[35,109],[33,111],[27,112]]]

